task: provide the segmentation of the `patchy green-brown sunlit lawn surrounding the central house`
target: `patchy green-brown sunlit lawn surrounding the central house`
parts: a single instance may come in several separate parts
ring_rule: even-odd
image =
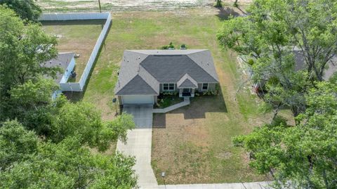
[[[269,121],[258,110],[259,100],[242,84],[234,53],[221,50],[216,32],[231,8],[189,8],[180,11],[120,12],[112,16],[112,27],[93,69],[84,101],[94,103],[103,119],[114,119],[114,85],[123,51],[153,49],[169,44],[208,48],[220,78],[219,96],[202,96],[191,105],[166,115],[154,115],[152,168],[159,183],[225,183],[263,181],[249,169],[248,155],[232,145],[232,137],[249,133]],[[76,30],[77,36],[88,35]],[[65,34],[67,36],[67,34]],[[83,39],[84,40],[84,39]],[[86,41],[86,40],[85,40]],[[112,148],[114,150],[114,148]],[[113,154],[109,153],[108,154]]]

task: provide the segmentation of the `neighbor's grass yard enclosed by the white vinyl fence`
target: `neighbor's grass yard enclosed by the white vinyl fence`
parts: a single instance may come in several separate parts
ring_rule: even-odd
[[[100,21],[42,22],[46,32],[58,36],[59,52],[74,52],[80,55],[75,60],[77,77],[70,82],[79,82],[81,79],[91,51],[102,30],[101,23]]]

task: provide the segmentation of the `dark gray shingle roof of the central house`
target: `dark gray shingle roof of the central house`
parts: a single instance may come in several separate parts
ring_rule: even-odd
[[[218,83],[211,52],[205,49],[124,51],[115,93],[158,95],[159,83],[177,83],[186,74],[190,83],[185,84]],[[140,80],[146,84],[141,85]]]

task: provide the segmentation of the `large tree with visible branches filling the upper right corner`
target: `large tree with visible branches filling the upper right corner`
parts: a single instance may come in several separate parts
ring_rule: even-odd
[[[337,53],[337,4],[330,0],[256,0],[246,17],[225,20],[218,41],[252,65],[253,82],[265,86],[275,108],[305,111],[305,93],[323,81],[326,63]],[[294,49],[305,69],[295,71]]]

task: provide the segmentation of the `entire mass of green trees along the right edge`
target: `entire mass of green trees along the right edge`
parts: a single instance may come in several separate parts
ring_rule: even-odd
[[[324,80],[336,64],[337,1],[255,0],[246,11],[225,20],[218,41],[251,65],[264,110],[275,116],[234,144],[279,188],[337,188],[337,74]],[[282,108],[295,125],[277,115]]]

